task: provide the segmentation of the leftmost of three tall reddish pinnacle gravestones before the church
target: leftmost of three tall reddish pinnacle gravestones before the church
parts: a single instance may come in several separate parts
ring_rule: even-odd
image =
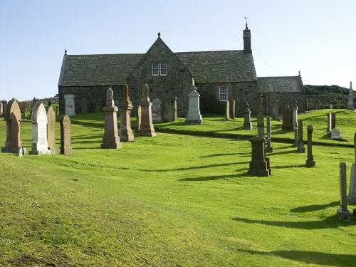
[[[117,117],[119,109],[114,104],[114,94],[109,87],[106,91],[106,106],[103,108],[105,116],[104,137],[101,148],[121,148],[120,137],[117,135]]]

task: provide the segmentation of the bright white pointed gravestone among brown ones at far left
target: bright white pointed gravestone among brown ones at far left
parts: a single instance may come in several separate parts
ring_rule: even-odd
[[[33,107],[32,115],[32,150],[31,155],[50,155],[51,150],[48,150],[47,142],[47,114],[46,108],[40,102],[37,102]]]

